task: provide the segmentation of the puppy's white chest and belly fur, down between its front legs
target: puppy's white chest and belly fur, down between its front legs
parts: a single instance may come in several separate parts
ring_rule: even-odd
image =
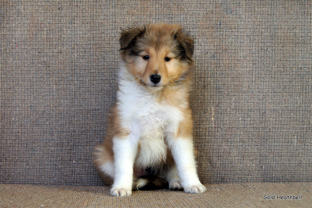
[[[167,156],[165,137],[177,131],[182,113],[168,104],[159,103],[152,95],[139,92],[123,94],[120,104],[124,125],[138,139],[136,164],[157,166]]]

